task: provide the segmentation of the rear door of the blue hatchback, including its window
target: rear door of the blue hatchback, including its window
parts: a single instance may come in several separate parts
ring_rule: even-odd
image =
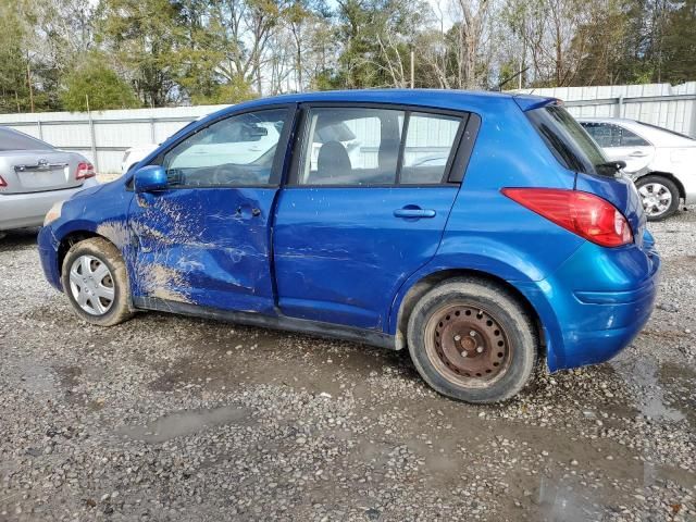
[[[420,109],[303,107],[273,234],[284,314],[384,327],[399,285],[439,245],[459,190],[448,173],[465,120]]]

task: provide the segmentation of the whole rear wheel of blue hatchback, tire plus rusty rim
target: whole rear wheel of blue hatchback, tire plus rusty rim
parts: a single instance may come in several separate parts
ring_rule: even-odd
[[[464,328],[464,334],[470,330],[472,336],[452,337],[450,344],[464,357],[459,363],[486,366],[481,373],[469,375],[469,368],[457,365],[457,353],[448,358],[443,352],[447,350],[445,337],[458,328]],[[469,345],[464,343],[469,341],[467,356]],[[474,277],[446,281],[421,298],[409,318],[408,345],[413,364],[431,387],[452,399],[476,403],[498,402],[518,394],[534,374],[539,351],[534,322],[517,297]]]

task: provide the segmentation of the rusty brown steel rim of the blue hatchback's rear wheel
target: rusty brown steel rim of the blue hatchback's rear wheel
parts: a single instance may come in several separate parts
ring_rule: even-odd
[[[460,386],[490,386],[510,366],[512,350],[505,328],[477,306],[445,307],[425,327],[428,359],[440,375]]]

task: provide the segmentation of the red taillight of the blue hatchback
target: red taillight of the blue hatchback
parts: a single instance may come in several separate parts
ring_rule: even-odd
[[[609,201],[593,194],[555,188],[504,188],[502,194],[602,247],[633,243],[625,216]]]

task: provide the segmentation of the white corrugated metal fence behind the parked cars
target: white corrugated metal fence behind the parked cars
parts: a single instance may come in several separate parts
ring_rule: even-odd
[[[566,102],[575,116],[629,117],[696,137],[696,82],[525,89]],[[0,125],[82,152],[101,173],[121,171],[123,152],[159,144],[200,116],[226,105],[134,109],[91,113],[0,114]]]

